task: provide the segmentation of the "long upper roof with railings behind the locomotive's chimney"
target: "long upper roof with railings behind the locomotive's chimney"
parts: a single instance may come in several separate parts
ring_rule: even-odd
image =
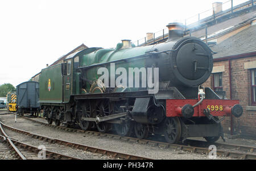
[[[228,7],[226,5],[224,8]],[[208,14],[210,10],[205,11],[207,13],[202,12],[200,14],[203,14],[203,16],[204,14],[207,14],[209,16],[203,19],[200,18],[200,20],[191,24],[186,23],[189,22],[190,19],[195,19],[195,17],[187,18],[185,20],[186,26],[184,30],[184,36],[186,37],[191,35],[198,37],[201,40],[205,40],[205,27],[207,27],[208,41],[216,39],[218,36],[222,36],[230,31],[236,30],[238,27],[242,26],[242,24],[250,22],[250,20],[256,17],[255,10],[255,1],[254,6],[251,5],[251,1],[246,1],[239,5],[233,6],[233,8],[231,8],[230,6],[229,9],[218,12],[214,15]],[[137,41],[133,41],[133,43],[137,44],[137,46],[143,46],[161,43],[168,39],[168,31],[166,32],[165,29],[163,31],[155,32],[153,35],[154,38],[152,35],[152,37],[149,37],[147,35],[146,37],[148,38],[148,40],[146,40],[146,37],[144,37],[145,39],[142,38]]]

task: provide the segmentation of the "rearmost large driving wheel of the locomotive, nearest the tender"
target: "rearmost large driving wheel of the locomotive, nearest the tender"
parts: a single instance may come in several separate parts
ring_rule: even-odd
[[[79,126],[82,128],[82,130],[86,131],[89,130],[89,128],[92,127],[92,122],[86,121],[86,120],[82,120],[82,117],[85,118],[90,118],[91,117],[91,107],[90,107],[90,102],[85,103],[84,105],[82,105],[82,111],[78,112],[77,116],[78,116],[78,122],[79,122]]]

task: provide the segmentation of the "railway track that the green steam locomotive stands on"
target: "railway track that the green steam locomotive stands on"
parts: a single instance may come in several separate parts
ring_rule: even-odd
[[[66,128],[61,126],[53,126],[52,124],[47,124],[44,122],[40,122],[39,120],[35,120],[32,118],[27,118],[26,116],[21,116],[22,118],[31,120],[32,122],[43,124],[44,126],[53,127],[59,130],[69,131],[69,132],[82,132],[90,135],[98,135],[105,136],[113,139],[119,139],[124,141],[137,142],[141,144],[148,144],[152,146],[157,146],[165,149],[177,149],[183,150],[193,153],[200,154],[209,154],[211,151],[208,149],[209,145],[216,145],[217,147],[217,155],[222,157],[233,157],[236,159],[251,159],[256,160],[256,149],[255,147],[245,146],[245,145],[234,145],[234,144],[221,144],[221,143],[208,143],[206,141],[199,140],[188,140],[189,145],[184,144],[169,144],[162,141],[154,141],[154,140],[146,140],[146,139],[138,139],[135,137],[122,137],[115,134],[103,134],[96,131],[83,131],[75,128]],[[193,145],[193,146],[192,146]],[[202,147],[203,146],[203,147]],[[206,148],[205,148],[206,147]]]

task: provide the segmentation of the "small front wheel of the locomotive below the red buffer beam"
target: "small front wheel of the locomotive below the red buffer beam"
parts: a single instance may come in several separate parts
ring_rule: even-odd
[[[164,137],[170,144],[177,143],[181,137],[181,124],[179,118],[166,118],[164,121]]]

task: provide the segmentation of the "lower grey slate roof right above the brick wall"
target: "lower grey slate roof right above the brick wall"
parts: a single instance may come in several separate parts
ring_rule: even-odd
[[[217,52],[213,59],[256,52],[256,25],[245,28],[210,49]]]

